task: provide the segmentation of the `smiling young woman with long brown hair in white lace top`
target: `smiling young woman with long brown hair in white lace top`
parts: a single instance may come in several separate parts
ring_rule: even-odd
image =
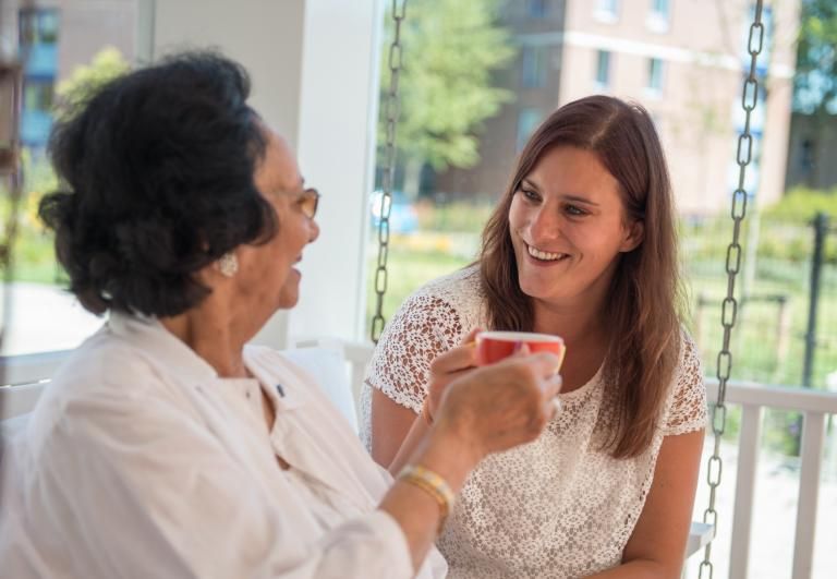
[[[478,262],[405,301],[364,391],[365,442],[392,470],[433,423],[439,376],[472,371],[472,328],[566,341],[563,410],[471,474],[438,542],[451,577],[679,576],[706,422],[680,306],[648,113],[606,96],[561,107],[523,149]]]

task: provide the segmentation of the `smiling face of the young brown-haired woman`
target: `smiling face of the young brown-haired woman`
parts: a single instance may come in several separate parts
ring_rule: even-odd
[[[557,306],[602,304],[619,254],[642,241],[619,182],[595,153],[571,146],[545,153],[521,180],[509,229],[521,290]]]

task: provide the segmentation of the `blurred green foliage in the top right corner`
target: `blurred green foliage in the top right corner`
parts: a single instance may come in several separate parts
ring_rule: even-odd
[[[837,113],[837,2],[803,0],[794,79],[794,107]]]

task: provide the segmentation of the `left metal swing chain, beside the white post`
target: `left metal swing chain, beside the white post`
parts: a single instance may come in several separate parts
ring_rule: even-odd
[[[381,174],[380,220],[378,221],[378,264],[375,269],[375,315],[372,318],[372,341],[378,343],[384,331],[384,295],[387,293],[387,257],[389,255],[389,213],[392,209],[392,184],[396,178],[396,128],[401,112],[401,101],[398,95],[398,83],[401,75],[401,24],[407,15],[407,0],[392,0],[392,22],[395,34],[389,45],[389,91],[384,104],[387,119],[387,142]]]

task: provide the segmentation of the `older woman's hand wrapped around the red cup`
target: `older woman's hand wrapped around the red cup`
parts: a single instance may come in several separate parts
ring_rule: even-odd
[[[554,354],[529,354],[524,349],[454,378],[437,410],[436,434],[465,443],[476,461],[535,439],[556,412],[558,365]]]

